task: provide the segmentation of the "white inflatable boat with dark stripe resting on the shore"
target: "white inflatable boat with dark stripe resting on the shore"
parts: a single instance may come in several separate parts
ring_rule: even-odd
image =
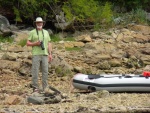
[[[86,75],[79,73],[73,77],[72,84],[77,89],[90,91],[150,92],[150,72],[145,72],[144,75]]]

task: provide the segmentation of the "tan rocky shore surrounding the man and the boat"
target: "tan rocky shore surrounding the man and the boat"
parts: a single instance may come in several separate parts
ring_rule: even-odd
[[[150,71],[150,27],[127,25],[107,31],[75,32],[76,41],[53,42],[53,61],[49,64],[49,84],[61,92],[55,103],[34,105],[29,87],[31,48],[18,43],[28,30],[16,30],[14,43],[0,43],[0,112],[2,113],[127,113],[150,112],[149,93],[69,93],[76,73],[142,74]],[[65,38],[64,33],[59,34]],[[67,51],[67,48],[79,50]],[[41,74],[41,73],[39,73]],[[39,80],[41,82],[41,80]]]

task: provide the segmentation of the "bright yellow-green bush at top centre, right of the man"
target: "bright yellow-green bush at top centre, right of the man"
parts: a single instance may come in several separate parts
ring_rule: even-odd
[[[85,5],[86,3],[86,5]],[[109,24],[112,22],[112,5],[109,2],[98,4],[94,0],[70,0],[63,5],[63,11],[66,14],[68,20],[72,20],[74,17],[76,21],[82,23],[94,23],[95,29],[97,29],[98,23]]]

